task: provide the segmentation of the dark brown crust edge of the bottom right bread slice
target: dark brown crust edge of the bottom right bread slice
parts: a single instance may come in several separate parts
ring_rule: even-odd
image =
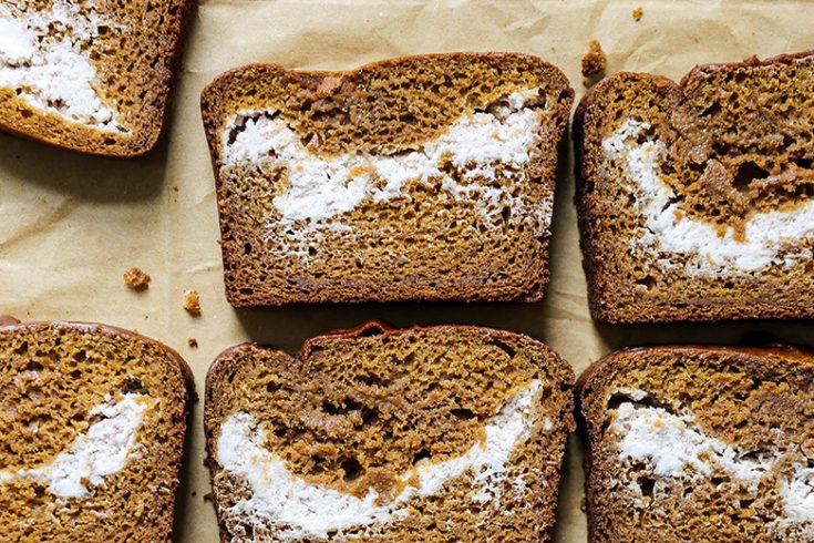
[[[814,370],[814,350],[804,347],[793,347],[787,345],[775,345],[771,347],[724,347],[724,346],[704,346],[704,345],[666,345],[658,347],[635,347],[626,348],[611,352],[601,359],[591,363],[577,379],[575,387],[576,413],[579,426],[579,433],[585,443],[585,492],[587,500],[588,515],[588,541],[599,541],[595,525],[597,524],[597,513],[591,506],[596,501],[597,493],[607,490],[600,489],[593,484],[591,479],[591,451],[599,441],[596,432],[590,431],[589,427],[597,428],[601,421],[597,417],[601,417],[601,411],[589,406],[591,395],[599,392],[593,390],[591,387],[597,380],[605,379],[606,373],[625,372],[635,361],[646,358],[650,355],[676,354],[686,357],[703,357],[715,354],[731,355],[738,359],[760,360],[762,363],[770,365],[782,362],[790,366],[796,366],[802,369]],[[594,402],[596,403],[596,402]]]

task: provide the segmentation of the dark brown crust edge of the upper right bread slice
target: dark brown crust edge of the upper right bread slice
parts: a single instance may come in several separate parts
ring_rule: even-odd
[[[588,284],[588,304],[594,319],[605,324],[646,324],[646,322],[681,322],[681,321],[721,321],[721,320],[753,320],[753,319],[807,319],[814,317],[814,305],[805,296],[800,297],[796,304],[781,304],[775,300],[765,300],[760,305],[738,304],[738,300],[729,299],[724,303],[708,300],[705,304],[659,308],[631,308],[612,300],[608,293],[609,285],[617,280],[607,277],[598,266],[600,245],[599,228],[596,225],[595,214],[586,198],[586,192],[594,177],[599,175],[593,170],[591,161],[587,160],[586,150],[597,148],[600,136],[597,126],[606,114],[597,107],[599,96],[612,85],[619,82],[647,83],[655,93],[676,93],[683,95],[686,86],[711,73],[721,70],[736,70],[741,68],[772,66],[791,64],[800,59],[814,55],[814,50],[794,54],[782,54],[763,61],[756,58],[740,63],[703,64],[693,68],[687,73],[680,83],[670,79],[648,73],[619,72],[605,78],[591,88],[580,100],[574,114],[574,146],[575,146],[575,178],[577,206],[577,218],[579,225],[579,239],[583,250],[583,267]],[[672,99],[671,99],[672,100]],[[676,303],[681,300],[677,299]]]

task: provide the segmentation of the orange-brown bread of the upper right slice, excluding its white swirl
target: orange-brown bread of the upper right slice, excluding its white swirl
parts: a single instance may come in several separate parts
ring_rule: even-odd
[[[687,254],[645,255],[647,233],[625,164],[602,141],[628,119],[651,126],[638,143],[661,142],[657,172],[681,216],[743,239],[758,213],[793,209],[814,197],[814,55],[699,66],[681,84],[620,73],[577,110],[577,206],[593,315],[608,322],[810,318],[814,242],[781,247],[802,257],[750,273],[698,275]],[[808,113],[806,113],[808,112]],[[805,256],[808,255],[808,256]],[[670,266],[664,266],[669,260]],[[793,287],[792,287],[793,286]]]

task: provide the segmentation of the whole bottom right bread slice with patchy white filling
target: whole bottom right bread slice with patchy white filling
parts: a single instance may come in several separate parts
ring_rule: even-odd
[[[591,543],[813,541],[814,352],[628,349],[577,395]]]

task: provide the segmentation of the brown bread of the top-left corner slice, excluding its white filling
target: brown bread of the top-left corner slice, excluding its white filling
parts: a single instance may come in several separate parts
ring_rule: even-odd
[[[50,1],[53,6],[49,6]],[[186,19],[194,0],[151,0],[121,6],[107,0],[49,2],[24,0],[22,6],[33,10],[31,18],[39,17],[39,10],[48,12],[58,7],[68,7],[70,18],[76,13],[89,18],[86,22],[94,34],[85,37],[90,45],[81,48],[80,54],[87,57],[89,66],[95,71],[93,88],[104,105],[120,117],[123,130],[101,130],[45,111],[1,83],[0,130],[92,155],[136,157],[151,151],[162,132],[168,94],[181,60]],[[61,11],[54,11],[54,17],[68,17],[59,13]],[[2,14],[0,12],[0,20]],[[17,19],[12,14],[6,20]],[[58,23],[72,32],[71,24],[75,21],[59,19]]]

